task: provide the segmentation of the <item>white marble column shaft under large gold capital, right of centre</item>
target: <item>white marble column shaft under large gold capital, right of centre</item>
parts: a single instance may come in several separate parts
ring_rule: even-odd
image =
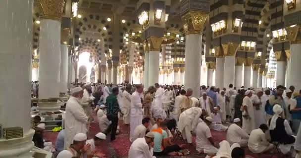
[[[185,88],[193,89],[193,97],[200,97],[201,84],[201,34],[186,35],[185,42]]]

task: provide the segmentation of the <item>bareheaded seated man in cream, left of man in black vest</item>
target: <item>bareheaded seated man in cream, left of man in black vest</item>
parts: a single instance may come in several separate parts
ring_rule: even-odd
[[[258,129],[251,131],[248,147],[252,153],[260,154],[274,149],[274,145],[265,138],[265,131],[267,130],[266,124],[260,124]]]

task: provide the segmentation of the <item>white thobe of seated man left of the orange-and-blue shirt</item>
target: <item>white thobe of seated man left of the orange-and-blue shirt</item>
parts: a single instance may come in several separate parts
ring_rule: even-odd
[[[145,138],[136,139],[129,149],[129,158],[155,158],[152,155],[153,148],[150,149]]]

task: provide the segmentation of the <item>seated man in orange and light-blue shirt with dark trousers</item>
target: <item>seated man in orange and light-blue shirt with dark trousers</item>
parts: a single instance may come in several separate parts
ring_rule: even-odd
[[[153,129],[151,132],[154,132],[154,147],[153,147],[153,155],[154,156],[174,156],[178,151],[181,150],[181,147],[178,145],[170,145],[164,148],[164,142],[168,141],[167,132],[167,124],[166,122],[161,122],[159,124],[159,128]]]

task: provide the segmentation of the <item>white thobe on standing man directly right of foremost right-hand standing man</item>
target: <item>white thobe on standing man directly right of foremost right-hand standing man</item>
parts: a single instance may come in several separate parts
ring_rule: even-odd
[[[260,124],[266,123],[265,121],[265,117],[264,117],[264,106],[265,103],[261,101],[261,99],[259,99],[259,97],[257,95],[252,95],[251,97],[252,103],[253,104],[258,104],[261,102],[261,104],[259,105],[259,110],[256,110],[255,107],[254,108],[254,119],[255,119],[255,128],[259,128]]]

